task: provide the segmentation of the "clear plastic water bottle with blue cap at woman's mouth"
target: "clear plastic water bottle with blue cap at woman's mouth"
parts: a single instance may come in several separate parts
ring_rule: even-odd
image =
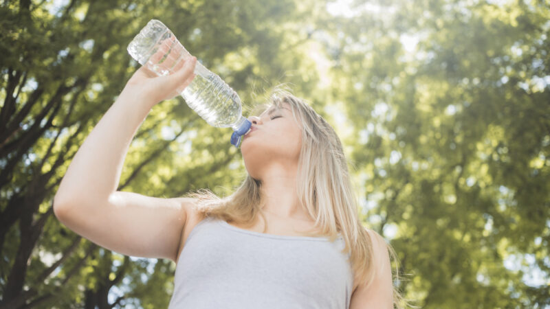
[[[156,19],[149,21],[133,38],[128,52],[159,76],[168,75],[179,62],[191,57],[168,27]],[[252,125],[242,115],[239,95],[199,62],[195,65],[195,74],[188,87],[181,91],[181,96],[210,126],[233,128],[231,144],[239,147],[241,137]]]

